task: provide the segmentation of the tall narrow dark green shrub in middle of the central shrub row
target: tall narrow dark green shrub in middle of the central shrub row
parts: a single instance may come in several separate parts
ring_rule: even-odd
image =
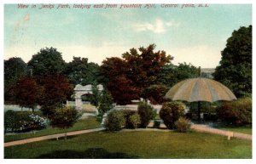
[[[146,102],[140,102],[137,107],[137,113],[141,117],[140,127],[146,128],[150,120],[155,116],[155,112],[151,105],[148,105]]]

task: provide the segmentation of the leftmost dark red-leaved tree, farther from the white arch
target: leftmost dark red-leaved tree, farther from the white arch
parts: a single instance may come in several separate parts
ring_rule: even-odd
[[[43,88],[31,76],[21,77],[15,86],[15,104],[21,107],[32,108],[38,105]]]

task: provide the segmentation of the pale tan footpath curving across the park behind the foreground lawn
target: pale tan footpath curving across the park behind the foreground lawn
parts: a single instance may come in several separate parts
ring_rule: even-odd
[[[194,129],[195,131],[200,131],[200,132],[205,132],[205,133],[215,133],[219,135],[224,135],[227,136],[228,139],[230,138],[238,138],[238,139],[247,139],[247,140],[252,140],[252,135],[250,134],[245,134],[245,133],[235,133],[231,131],[226,131],[226,130],[220,130],[217,128],[209,127],[207,125],[200,125],[200,124],[193,124],[191,126],[191,129]],[[79,135],[83,133],[92,133],[92,132],[98,132],[105,130],[104,127],[99,127],[99,128],[93,128],[93,129],[87,129],[87,130],[80,130],[80,131],[74,131],[74,132],[69,132],[67,133],[67,136],[73,136],[73,135]],[[165,131],[165,132],[170,132],[168,129],[156,129],[156,128],[139,128],[135,129],[136,131]],[[125,129],[125,131],[135,131]],[[38,141],[43,141],[47,139],[59,139],[61,137],[65,137],[65,133],[57,133],[57,134],[52,134],[52,135],[47,135],[47,136],[42,136],[42,137],[37,137],[37,138],[32,138],[32,139],[22,139],[22,140],[17,140],[17,141],[12,141],[8,143],[4,143],[4,147],[9,147],[9,146],[14,146],[14,145],[19,145],[19,144],[28,144],[32,142],[38,142]]]

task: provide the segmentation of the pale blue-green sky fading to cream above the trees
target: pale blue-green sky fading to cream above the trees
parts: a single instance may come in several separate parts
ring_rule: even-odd
[[[49,4],[49,3],[46,3]],[[78,3],[80,4],[80,3]],[[87,4],[89,5],[89,4]],[[163,8],[18,8],[4,4],[4,59],[32,59],[53,47],[70,62],[73,56],[99,65],[131,48],[156,45],[174,57],[172,63],[215,68],[232,31],[252,25],[252,4],[209,4],[208,7]],[[137,5],[138,6],[138,5]],[[88,6],[87,6],[88,7]],[[40,9],[41,8],[41,9]]]

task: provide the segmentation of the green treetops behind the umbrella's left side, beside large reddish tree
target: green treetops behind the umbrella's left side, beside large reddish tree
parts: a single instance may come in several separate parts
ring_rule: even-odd
[[[187,78],[195,78],[197,76],[198,69],[194,65],[188,65],[187,63],[164,65],[157,74],[159,82],[166,85],[166,87],[172,87],[177,82],[181,82]]]

